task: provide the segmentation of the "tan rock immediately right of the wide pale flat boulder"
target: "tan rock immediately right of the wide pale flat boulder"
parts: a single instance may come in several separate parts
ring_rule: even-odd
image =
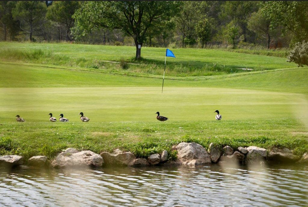
[[[100,154],[105,164],[115,164],[115,165],[129,165],[136,156],[132,152],[123,152],[120,149],[116,149],[112,153],[102,152]]]

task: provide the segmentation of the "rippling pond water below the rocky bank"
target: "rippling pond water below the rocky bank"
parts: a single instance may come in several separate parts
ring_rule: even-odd
[[[0,170],[0,206],[308,206],[308,167]]]

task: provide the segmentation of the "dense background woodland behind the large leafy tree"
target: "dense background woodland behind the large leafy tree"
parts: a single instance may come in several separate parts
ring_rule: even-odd
[[[123,28],[76,27],[74,14],[79,11],[80,19],[83,4],[89,2],[53,1],[47,7],[45,1],[1,1],[0,41],[135,46]],[[176,7],[168,21],[149,27],[143,47],[281,48],[308,39],[308,2],[181,1]]]

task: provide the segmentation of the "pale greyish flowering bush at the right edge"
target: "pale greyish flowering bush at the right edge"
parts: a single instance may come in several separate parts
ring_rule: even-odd
[[[303,65],[308,66],[308,42],[304,40],[302,43],[295,43],[294,48],[289,52],[287,58],[287,62],[294,62],[298,64],[297,67],[303,67]]]

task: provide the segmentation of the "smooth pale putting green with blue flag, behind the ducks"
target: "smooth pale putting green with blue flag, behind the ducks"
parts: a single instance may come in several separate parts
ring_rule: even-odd
[[[90,122],[153,121],[156,111],[181,120],[285,118],[298,116],[307,107],[306,95],[245,89],[206,87],[57,87],[0,88],[0,119],[15,122],[19,114],[27,122],[48,122],[64,114],[71,122],[79,112]],[[301,114],[302,116],[302,114]]]

